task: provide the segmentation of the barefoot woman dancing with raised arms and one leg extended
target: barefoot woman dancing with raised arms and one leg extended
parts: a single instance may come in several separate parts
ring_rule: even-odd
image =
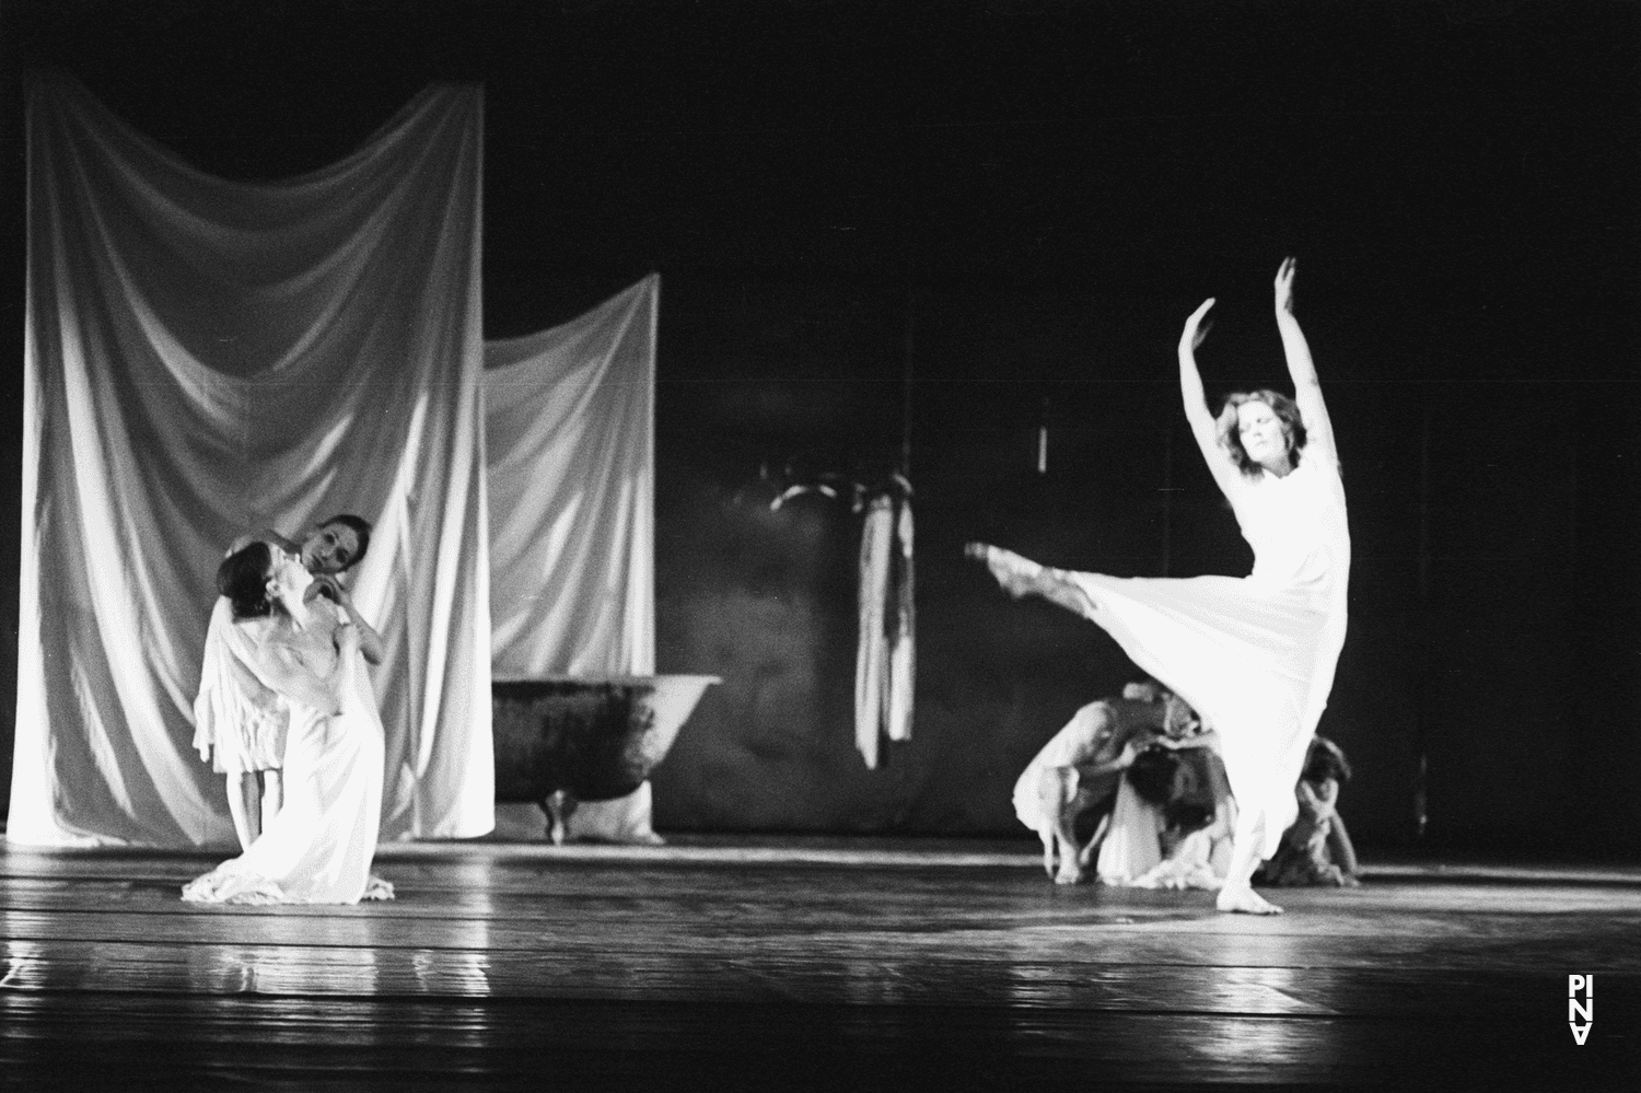
[[[1180,335],[1180,392],[1191,435],[1254,548],[1254,571],[1114,578],[1045,568],[985,543],[967,551],[1011,596],[1044,596],[1099,624],[1219,732],[1237,822],[1218,906],[1277,914],[1250,878],[1296,814],[1293,784],[1344,645],[1351,533],[1332,425],[1293,317],[1293,259],[1275,282],[1293,399],[1234,394],[1214,420],[1196,371],[1213,304],[1198,307]]]

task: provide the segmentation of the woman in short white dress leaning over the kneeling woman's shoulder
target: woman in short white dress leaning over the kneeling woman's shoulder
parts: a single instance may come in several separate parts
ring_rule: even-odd
[[[382,661],[382,640],[353,607],[353,597],[338,576],[358,565],[371,546],[371,525],[363,517],[343,514],[310,528],[300,543],[277,532],[241,535],[228,555],[261,542],[300,555],[315,574],[309,596],[328,596],[359,627],[359,648],[373,665]],[[233,627],[228,599],[217,597],[205,632],[200,689],[194,699],[194,747],[200,758],[226,778],[228,812],[240,847],[248,850],[263,824],[279,814],[284,799],[281,766],[290,720],[284,701],[269,691],[251,665],[243,630]]]

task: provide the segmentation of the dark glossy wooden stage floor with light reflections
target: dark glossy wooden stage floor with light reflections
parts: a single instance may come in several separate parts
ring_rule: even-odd
[[[0,1088],[1641,1088],[1641,870],[1252,919],[1012,844],[417,845],[391,904],[182,904],[212,863],[0,853]]]

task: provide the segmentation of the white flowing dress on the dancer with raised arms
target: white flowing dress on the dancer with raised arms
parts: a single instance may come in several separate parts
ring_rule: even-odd
[[[1344,647],[1351,532],[1326,460],[1242,479],[1231,505],[1254,548],[1246,578],[1065,576],[1085,614],[1219,730],[1237,812],[1264,817],[1268,858],[1296,816],[1293,786]]]

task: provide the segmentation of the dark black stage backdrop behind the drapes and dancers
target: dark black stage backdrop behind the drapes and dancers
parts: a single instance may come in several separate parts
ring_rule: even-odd
[[[486,335],[663,277],[660,668],[725,681],[656,773],[658,827],[1024,835],[1016,773],[1132,668],[960,545],[1244,573],[1173,345],[1216,295],[1211,397],[1285,386],[1270,279],[1296,254],[1351,501],[1323,732],[1359,842],[1633,858],[1638,31],[1634,3],[1526,0],[3,0],[0,573],[23,71],[230,177],[331,162],[427,82],[482,82]],[[857,519],[771,512],[760,471],[875,479],[907,435],[917,719],[866,771]],[[10,576],[0,612],[10,694]]]

